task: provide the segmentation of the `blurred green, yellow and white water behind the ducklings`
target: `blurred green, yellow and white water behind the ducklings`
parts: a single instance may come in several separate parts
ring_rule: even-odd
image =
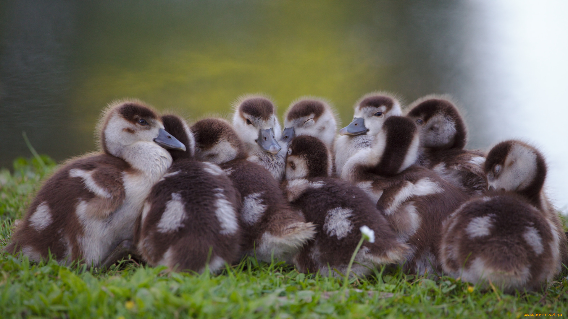
[[[548,188],[568,205],[568,2],[0,2],[0,166],[96,149],[101,109],[133,97],[197,119],[244,93],[282,114],[323,96],[344,124],[374,90],[407,103],[451,94],[469,148],[506,138],[542,149]]]

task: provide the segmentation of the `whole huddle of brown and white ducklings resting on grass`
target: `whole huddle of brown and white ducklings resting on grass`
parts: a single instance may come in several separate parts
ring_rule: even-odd
[[[232,124],[189,126],[137,100],[112,103],[101,150],[45,181],[5,247],[33,261],[110,266],[135,254],[151,266],[212,272],[244,255],[301,272],[345,274],[399,264],[505,291],[537,289],[568,259],[542,188],[544,157],[517,140],[464,149],[466,127],[444,96],[403,113],[386,93],[364,95],[337,135],[325,100],[274,103],[249,95]]]

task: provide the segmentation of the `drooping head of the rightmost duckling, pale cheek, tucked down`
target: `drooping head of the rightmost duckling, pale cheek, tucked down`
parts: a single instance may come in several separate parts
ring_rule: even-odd
[[[542,208],[546,163],[533,146],[517,140],[500,142],[487,154],[484,170],[490,190],[516,192]]]

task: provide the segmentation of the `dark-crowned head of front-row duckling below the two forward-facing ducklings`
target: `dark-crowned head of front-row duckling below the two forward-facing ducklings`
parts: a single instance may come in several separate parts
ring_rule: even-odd
[[[296,136],[286,158],[286,179],[325,177],[329,175],[329,152],[323,141],[309,135]]]

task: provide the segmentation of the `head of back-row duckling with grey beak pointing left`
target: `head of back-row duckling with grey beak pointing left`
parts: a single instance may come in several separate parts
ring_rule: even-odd
[[[365,94],[355,103],[353,121],[340,129],[339,135],[377,135],[390,116],[402,115],[400,102],[387,93]]]

